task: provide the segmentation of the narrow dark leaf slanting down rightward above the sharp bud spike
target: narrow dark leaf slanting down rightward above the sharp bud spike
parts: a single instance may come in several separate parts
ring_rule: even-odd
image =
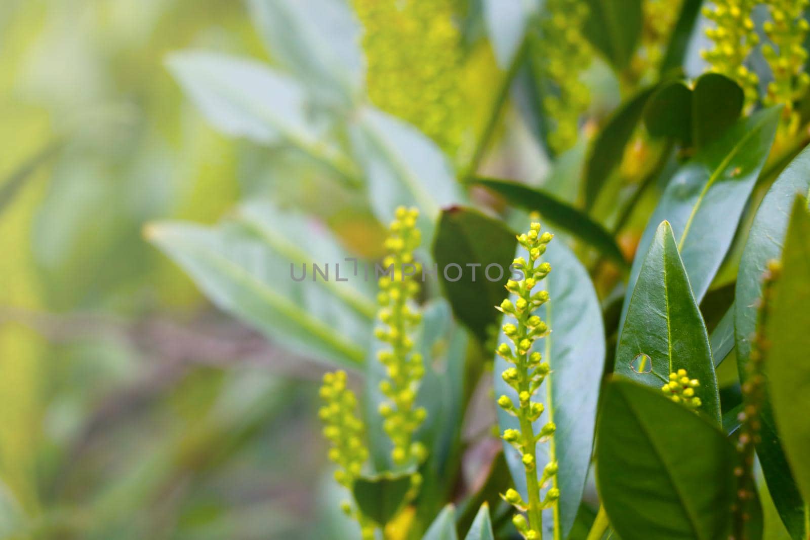
[[[549,193],[540,189],[533,189],[518,182],[494,180],[491,178],[478,178],[475,184],[483,185],[492,189],[495,193],[503,196],[510,205],[522,208],[523,210],[536,210],[556,227],[565,229],[578,239],[599,249],[605,257],[612,261],[619,262],[626,266],[627,261],[622,255],[619,246],[613,236],[605,230],[602,225],[574,208],[569,204],[560,201]]]

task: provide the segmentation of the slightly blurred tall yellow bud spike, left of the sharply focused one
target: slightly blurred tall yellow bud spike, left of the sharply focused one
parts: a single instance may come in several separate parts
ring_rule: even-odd
[[[419,464],[427,457],[424,445],[413,441],[416,429],[424,422],[427,411],[416,406],[416,394],[424,376],[422,356],[413,351],[412,330],[421,321],[413,299],[419,293],[414,275],[420,274],[420,265],[414,261],[413,251],[421,242],[416,208],[399,207],[390,225],[386,240],[389,255],[383,266],[391,268],[389,275],[380,279],[377,300],[382,326],[375,336],[390,348],[378,353],[377,358],[386,367],[388,378],[380,383],[380,391],[388,398],[379,407],[383,428],[394,444],[391,458],[395,465]]]

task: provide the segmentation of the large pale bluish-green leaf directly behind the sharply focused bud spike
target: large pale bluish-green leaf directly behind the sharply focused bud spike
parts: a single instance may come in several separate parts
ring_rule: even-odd
[[[524,249],[518,249],[518,256],[528,257],[528,254]],[[549,421],[556,423],[554,444],[560,467],[557,482],[561,493],[558,526],[562,538],[565,538],[577,515],[590,466],[596,403],[604,368],[604,329],[599,300],[577,257],[560,240],[552,240],[543,260],[551,264],[552,271],[539,286],[548,290],[551,300],[535,313],[546,321],[552,332],[535,342],[535,350],[551,365],[552,372],[537,393],[546,412],[535,422],[535,431],[539,432]],[[501,334],[501,342],[506,342],[506,339]],[[495,395],[507,394],[517,400],[514,390],[501,378],[507,367],[504,359],[496,358]],[[498,423],[501,432],[519,427],[517,419],[503,410],[498,411]],[[549,461],[548,451],[549,444],[537,445],[537,469],[540,471]],[[504,453],[515,487],[526,500],[526,473],[521,456],[509,444],[504,444]],[[547,513],[544,523],[552,525],[552,514]]]

